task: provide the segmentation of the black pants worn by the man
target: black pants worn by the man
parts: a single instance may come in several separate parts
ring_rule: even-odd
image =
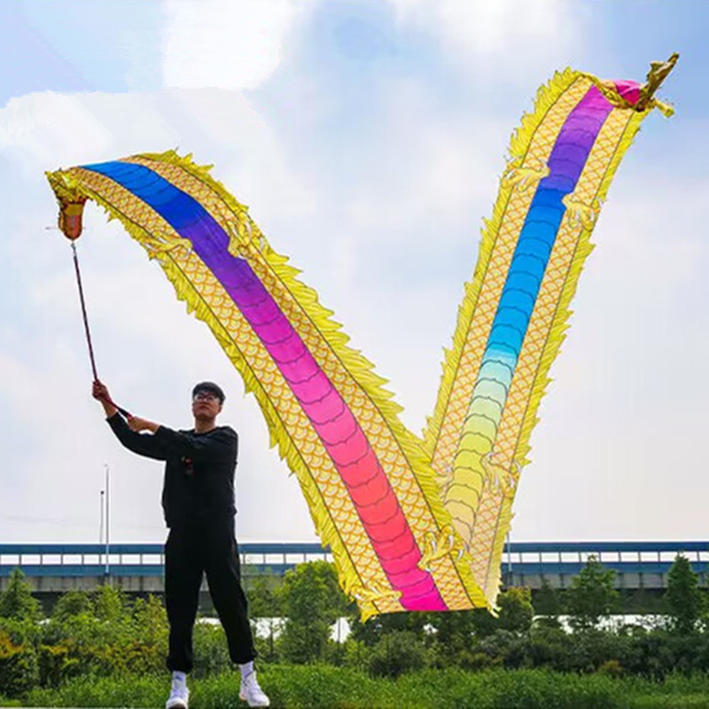
[[[168,669],[192,669],[192,628],[203,574],[214,608],[227,635],[230,658],[238,663],[256,656],[241,588],[233,518],[191,521],[173,526],[165,545],[165,600],[170,642]]]

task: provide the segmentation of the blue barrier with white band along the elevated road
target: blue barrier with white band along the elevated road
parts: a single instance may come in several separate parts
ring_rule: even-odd
[[[317,543],[242,543],[239,553],[242,565],[277,574],[304,561],[332,560],[330,550]],[[695,573],[709,573],[709,541],[517,541],[504,549],[503,578],[533,586],[549,578],[563,588],[595,556],[621,579],[638,575],[642,587],[642,577],[666,575],[678,554]],[[163,555],[162,544],[110,544],[107,555],[105,544],[0,544],[0,577],[15,568],[40,578],[161,577]]]

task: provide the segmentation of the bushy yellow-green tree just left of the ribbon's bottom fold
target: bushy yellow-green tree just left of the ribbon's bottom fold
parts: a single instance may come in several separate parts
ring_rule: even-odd
[[[323,659],[330,628],[347,603],[335,567],[325,561],[296,566],[285,574],[280,596],[286,614],[281,636],[284,658],[296,663]]]

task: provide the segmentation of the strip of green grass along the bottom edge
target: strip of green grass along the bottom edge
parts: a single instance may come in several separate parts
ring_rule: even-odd
[[[545,670],[426,670],[375,680],[332,666],[264,666],[261,685],[275,707],[290,709],[709,709],[709,677],[666,682]],[[230,709],[238,674],[190,682],[191,709]],[[161,707],[168,674],[74,678],[56,690],[33,690],[15,706]],[[0,697],[0,705],[12,706]]]

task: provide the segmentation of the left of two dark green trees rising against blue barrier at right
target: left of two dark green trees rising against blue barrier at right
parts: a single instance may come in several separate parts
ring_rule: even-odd
[[[604,616],[610,615],[619,598],[613,588],[614,575],[596,557],[588,557],[580,574],[573,578],[566,596],[571,616],[569,622],[574,630],[597,627]]]

